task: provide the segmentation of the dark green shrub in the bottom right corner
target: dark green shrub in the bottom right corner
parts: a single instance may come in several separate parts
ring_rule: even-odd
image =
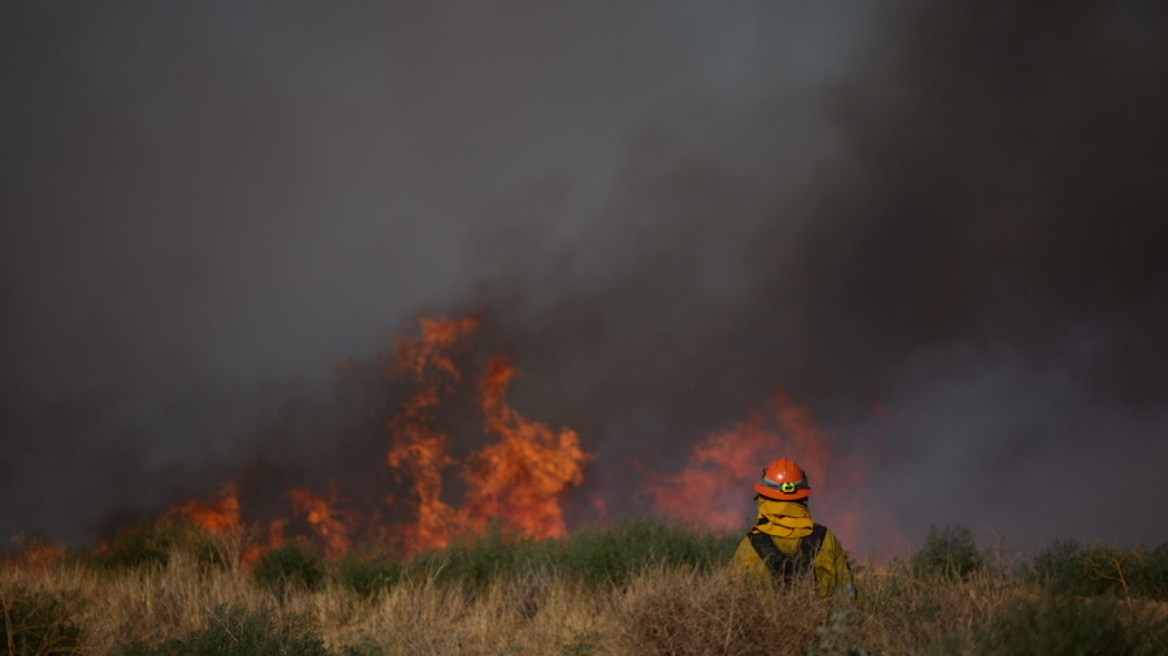
[[[1168,619],[1113,599],[1044,596],[1004,606],[973,642],[978,656],[1160,656]]]

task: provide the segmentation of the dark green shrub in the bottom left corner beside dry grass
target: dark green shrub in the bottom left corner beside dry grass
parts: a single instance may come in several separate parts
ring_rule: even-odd
[[[13,655],[76,654],[82,630],[74,623],[79,612],[75,593],[0,588],[0,645]]]

